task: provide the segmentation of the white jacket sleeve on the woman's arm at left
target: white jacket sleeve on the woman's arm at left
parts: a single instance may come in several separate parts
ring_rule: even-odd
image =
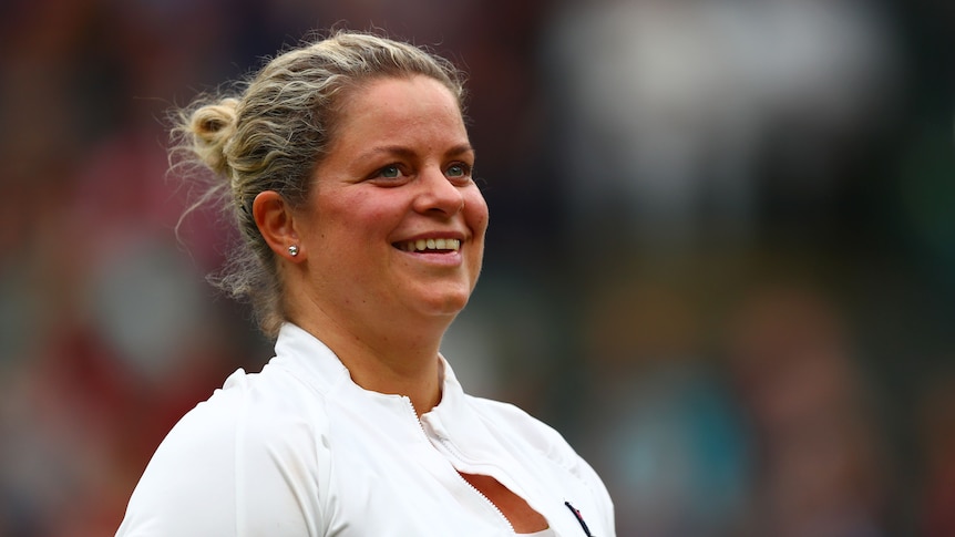
[[[117,537],[322,535],[314,428],[300,407],[283,412],[246,388],[216,392],[173,427]]]

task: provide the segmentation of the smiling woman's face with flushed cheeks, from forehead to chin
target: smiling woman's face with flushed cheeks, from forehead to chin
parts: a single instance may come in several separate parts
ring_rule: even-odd
[[[392,327],[450,322],[478,281],[487,227],[458,103],[420,75],[377,80],[346,99],[296,217],[309,308]]]

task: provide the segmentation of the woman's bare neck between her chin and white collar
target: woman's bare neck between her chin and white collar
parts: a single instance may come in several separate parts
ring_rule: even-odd
[[[328,316],[295,316],[292,321],[328,345],[359,386],[404,395],[415,412],[429,412],[441,400],[441,327],[418,330],[369,330],[369,323],[346,326]]]

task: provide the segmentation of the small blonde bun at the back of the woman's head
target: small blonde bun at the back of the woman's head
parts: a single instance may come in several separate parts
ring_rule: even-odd
[[[237,99],[223,99],[215,104],[196,109],[189,117],[193,151],[206,166],[217,174],[228,175],[227,144],[236,130]]]

